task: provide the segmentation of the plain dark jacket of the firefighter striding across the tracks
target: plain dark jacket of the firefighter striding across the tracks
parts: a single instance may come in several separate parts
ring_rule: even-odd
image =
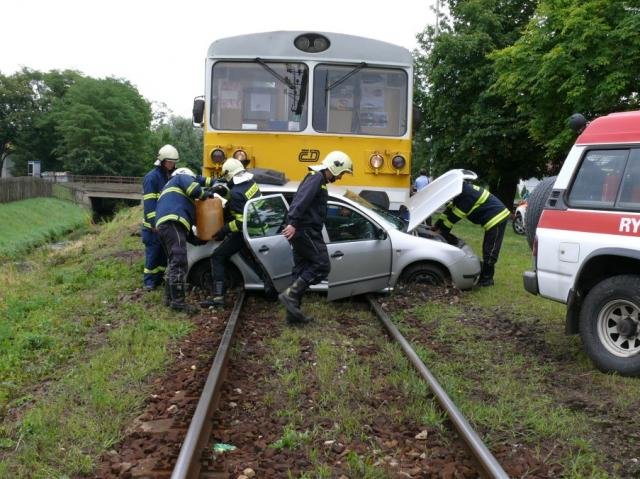
[[[293,197],[287,222],[296,229],[322,230],[327,218],[328,199],[327,180],[322,170],[309,171]]]

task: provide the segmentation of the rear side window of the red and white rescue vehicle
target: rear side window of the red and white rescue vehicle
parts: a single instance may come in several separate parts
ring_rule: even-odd
[[[629,150],[589,150],[569,192],[571,206],[612,208]]]

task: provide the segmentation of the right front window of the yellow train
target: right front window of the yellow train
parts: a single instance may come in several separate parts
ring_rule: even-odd
[[[403,136],[407,84],[407,74],[400,69],[318,65],[313,128],[323,133]]]

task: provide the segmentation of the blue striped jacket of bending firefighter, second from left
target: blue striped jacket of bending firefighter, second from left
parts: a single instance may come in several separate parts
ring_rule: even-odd
[[[156,226],[165,221],[177,221],[191,231],[196,213],[195,200],[203,199],[201,186],[211,186],[212,178],[176,175],[164,186],[156,207]]]

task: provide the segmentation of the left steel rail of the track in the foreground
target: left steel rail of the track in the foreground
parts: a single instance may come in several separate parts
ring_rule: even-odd
[[[229,315],[227,327],[224,330],[218,351],[213,359],[213,364],[211,365],[207,382],[198,400],[198,405],[191,418],[191,424],[180,448],[180,454],[171,473],[171,479],[195,478],[200,473],[199,454],[211,434],[211,416],[214,413],[215,404],[218,401],[220,387],[224,381],[229,352],[240,323],[238,316],[244,303],[244,296],[245,292],[240,292],[233,310]]]

